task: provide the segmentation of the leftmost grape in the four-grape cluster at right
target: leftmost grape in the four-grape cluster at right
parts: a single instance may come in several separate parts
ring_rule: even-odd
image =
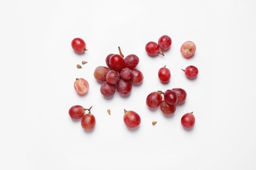
[[[151,92],[146,97],[146,105],[150,109],[156,109],[157,107],[160,106],[162,99],[163,97],[159,92]]]

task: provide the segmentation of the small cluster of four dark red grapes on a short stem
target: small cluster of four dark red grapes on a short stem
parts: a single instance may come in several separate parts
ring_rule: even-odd
[[[165,92],[151,92],[146,97],[146,105],[148,108],[157,109],[160,107],[161,112],[165,116],[173,114],[176,110],[176,105],[181,105],[185,101],[186,91],[182,88],[173,88]]]

